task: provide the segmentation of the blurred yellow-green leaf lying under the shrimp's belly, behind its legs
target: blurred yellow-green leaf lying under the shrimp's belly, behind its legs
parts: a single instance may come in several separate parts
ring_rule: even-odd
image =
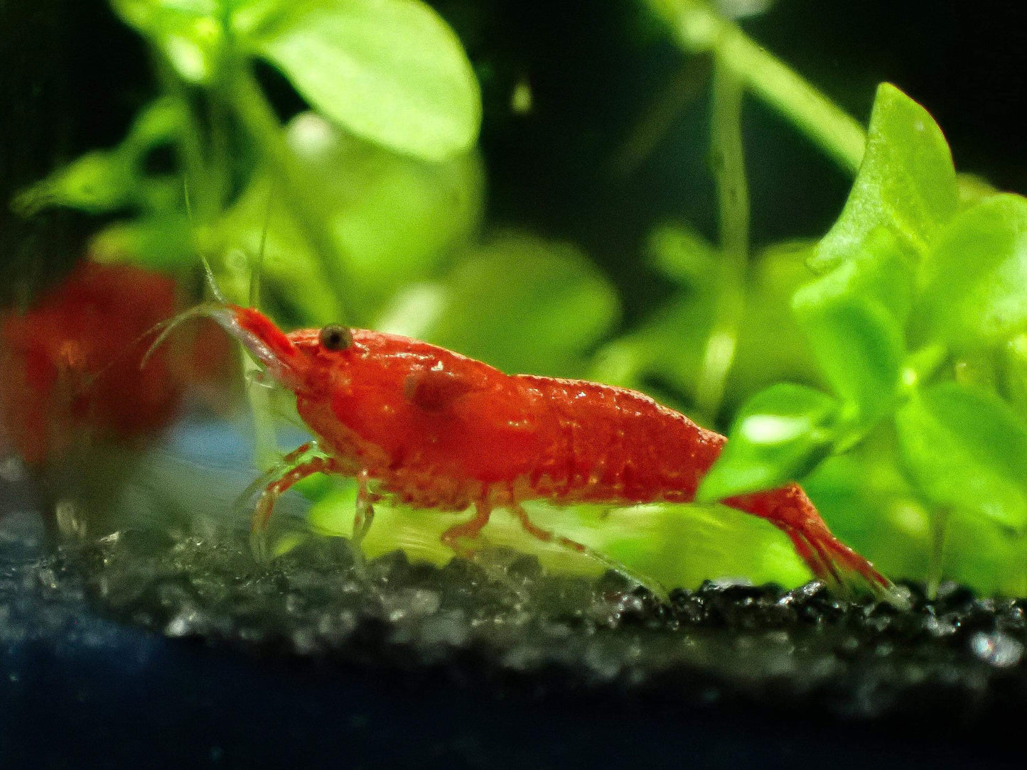
[[[356,486],[331,489],[310,508],[308,521],[317,532],[348,536],[353,524]],[[335,482],[338,485],[338,482]],[[710,510],[694,505],[638,505],[609,508],[557,506],[543,501],[525,505],[532,522],[604,553],[663,585],[695,586],[711,577],[745,577],[796,585],[809,573],[787,536],[769,523],[730,508]],[[445,564],[453,551],[441,540],[453,526],[451,515],[435,509],[375,505],[375,526],[364,541],[373,557],[397,549],[412,561]],[[605,570],[558,543],[528,535],[508,511],[498,509],[483,535],[491,546],[537,555],[546,571],[600,575]],[[682,548],[682,543],[688,543]]]

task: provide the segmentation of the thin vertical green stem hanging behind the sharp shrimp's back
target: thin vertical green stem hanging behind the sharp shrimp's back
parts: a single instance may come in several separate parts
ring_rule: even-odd
[[[713,73],[710,149],[720,206],[720,280],[713,325],[702,354],[695,401],[715,420],[724,399],[727,376],[737,348],[745,312],[749,269],[749,185],[741,139],[745,88],[734,71],[718,56]]]

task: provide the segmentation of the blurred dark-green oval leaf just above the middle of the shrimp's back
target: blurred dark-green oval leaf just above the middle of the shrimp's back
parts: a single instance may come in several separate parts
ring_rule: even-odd
[[[404,291],[377,324],[508,373],[584,374],[619,312],[609,280],[574,245],[509,231],[438,283]]]

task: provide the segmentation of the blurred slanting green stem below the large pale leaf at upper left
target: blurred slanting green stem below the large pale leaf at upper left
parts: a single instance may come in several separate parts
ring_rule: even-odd
[[[319,201],[301,182],[302,170],[297,167],[282,137],[281,124],[253,73],[242,63],[238,63],[233,69],[235,77],[229,79],[226,93],[242,124],[280,180],[278,189],[281,190],[282,199],[315,255],[325,279],[333,287],[336,316],[339,321],[346,322],[347,303],[351,311],[355,309],[352,307],[352,295],[347,298],[347,302],[343,302],[344,291],[353,285],[345,267],[345,255],[341,253],[327,218],[320,214]],[[359,320],[358,313],[353,312],[352,315],[356,317],[348,320]]]

